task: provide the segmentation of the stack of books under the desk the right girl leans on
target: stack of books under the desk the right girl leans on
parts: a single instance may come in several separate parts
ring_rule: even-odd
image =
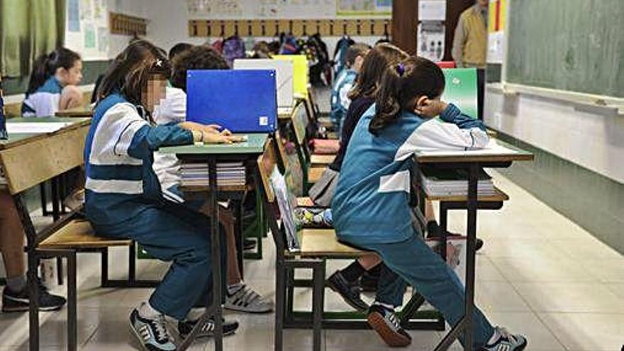
[[[439,169],[420,166],[420,182],[428,196],[467,196],[468,172],[464,169]],[[492,196],[494,182],[483,169],[479,171],[478,196]]]

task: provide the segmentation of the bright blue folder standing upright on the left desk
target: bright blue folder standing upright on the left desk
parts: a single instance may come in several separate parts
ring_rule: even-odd
[[[208,69],[186,73],[186,120],[234,133],[272,133],[277,126],[274,69]]]

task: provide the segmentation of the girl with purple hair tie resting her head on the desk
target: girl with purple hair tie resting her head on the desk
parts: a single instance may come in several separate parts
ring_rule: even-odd
[[[332,214],[339,240],[377,252],[392,272],[456,325],[464,316],[464,286],[412,223],[412,156],[424,150],[482,148],[489,140],[481,121],[440,100],[444,87],[442,70],[421,57],[385,69],[375,104],[357,123],[347,147]],[[403,299],[401,280],[382,271],[368,315],[369,325],[393,346],[411,341],[392,309]],[[380,301],[380,294],[387,296]],[[472,318],[474,350],[520,351],[527,345],[522,335],[494,328],[479,308]]]

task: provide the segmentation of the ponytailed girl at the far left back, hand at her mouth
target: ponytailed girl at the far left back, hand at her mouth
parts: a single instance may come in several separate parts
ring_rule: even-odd
[[[77,52],[57,48],[35,60],[30,73],[22,116],[54,116],[57,111],[82,104],[82,60]]]

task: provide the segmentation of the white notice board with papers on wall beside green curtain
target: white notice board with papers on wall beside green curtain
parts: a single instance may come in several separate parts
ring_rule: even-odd
[[[108,6],[106,0],[67,0],[65,47],[83,60],[108,60]]]

